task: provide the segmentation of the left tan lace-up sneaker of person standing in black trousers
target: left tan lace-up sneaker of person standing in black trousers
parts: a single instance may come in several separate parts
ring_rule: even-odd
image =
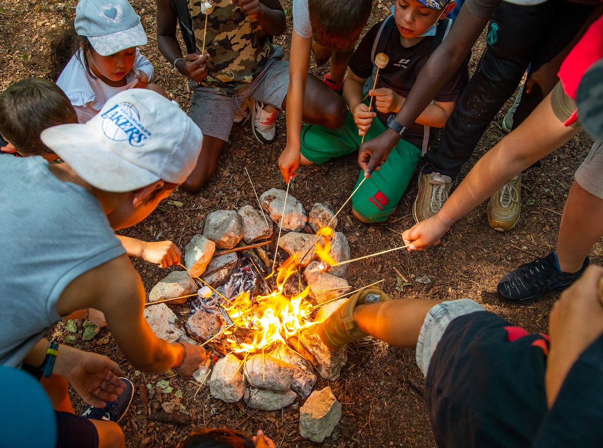
[[[419,173],[417,199],[412,204],[412,216],[419,223],[434,216],[448,199],[452,179],[440,173]]]

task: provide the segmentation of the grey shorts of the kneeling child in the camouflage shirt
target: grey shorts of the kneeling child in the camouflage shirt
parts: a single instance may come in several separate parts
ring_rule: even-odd
[[[280,109],[289,87],[289,62],[283,61],[283,55],[283,51],[275,47],[264,69],[235,95],[218,93],[211,87],[195,86],[189,117],[201,128],[203,135],[228,142],[235,114],[241,111],[245,98]]]

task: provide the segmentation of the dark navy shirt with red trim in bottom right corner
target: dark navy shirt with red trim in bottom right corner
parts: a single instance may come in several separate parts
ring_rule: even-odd
[[[488,311],[453,320],[425,378],[438,446],[596,447],[603,440],[603,336],[574,364],[549,411],[548,337]]]

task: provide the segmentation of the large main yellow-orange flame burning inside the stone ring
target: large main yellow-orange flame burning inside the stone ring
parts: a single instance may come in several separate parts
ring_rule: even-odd
[[[281,264],[273,293],[252,300],[247,292],[243,292],[233,299],[232,306],[226,308],[236,326],[250,329],[248,339],[242,343],[232,337],[227,339],[235,353],[253,353],[274,343],[284,344],[288,338],[314,325],[309,321],[312,304],[306,300],[309,287],[291,297],[283,293],[285,282],[297,272],[298,264],[297,254]]]

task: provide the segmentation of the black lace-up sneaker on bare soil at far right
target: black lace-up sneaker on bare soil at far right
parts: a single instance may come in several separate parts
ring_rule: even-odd
[[[551,252],[545,258],[523,264],[505,275],[498,284],[498,296],[507,303],[535,302],[548,291],[563,291],[578,280],[589,263],[589,257],[586,257],[578,272],[561,272],[557,267],[557,255]]]

